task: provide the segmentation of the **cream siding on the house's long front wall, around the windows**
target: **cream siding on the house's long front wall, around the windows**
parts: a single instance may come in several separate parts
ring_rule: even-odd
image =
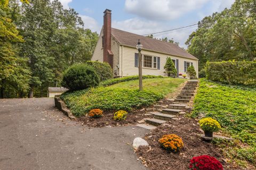
[[[136,48],[131,48],[131,47],[126,47],[123,46],[123,51],[122,51],[122,46],[120,47],[120,58],[121,62],[120,67],[121,67],[121,75],[120,76],[132,76],[132,75],[138,75],[138,67],[134,67],[134,53],[138,53],[138,50]],[[122,56],[123,54],[123,56]],[[142,50],[142,55],[151,55],[151,56],[159,56],[160,57],[160,70],[157,69],[151,69],[151,68],[142,68],[142,74],[143,75],[161,75],[161,76],[166,76],[164,73],[164,65],[166,63],[167,57],[171,57],[172,59],[178,59],[179,60],[179,73],[181,74],[186,74],[184,71],[184,61],[187,62],[193,62],[193,66],[195,67],[197,76],[198,76],[198,63],[197,60],[191,60],[191,59],[186,59],[186,58],[181,58],[178,56],[171,56],[167,54],[161,54],[161,53],[156,53],[156,52],[150,52],[150,51],[145,51]],[[123,59],[122,59],[123,57]],[[123,74],[122,74],[123,70]]]

